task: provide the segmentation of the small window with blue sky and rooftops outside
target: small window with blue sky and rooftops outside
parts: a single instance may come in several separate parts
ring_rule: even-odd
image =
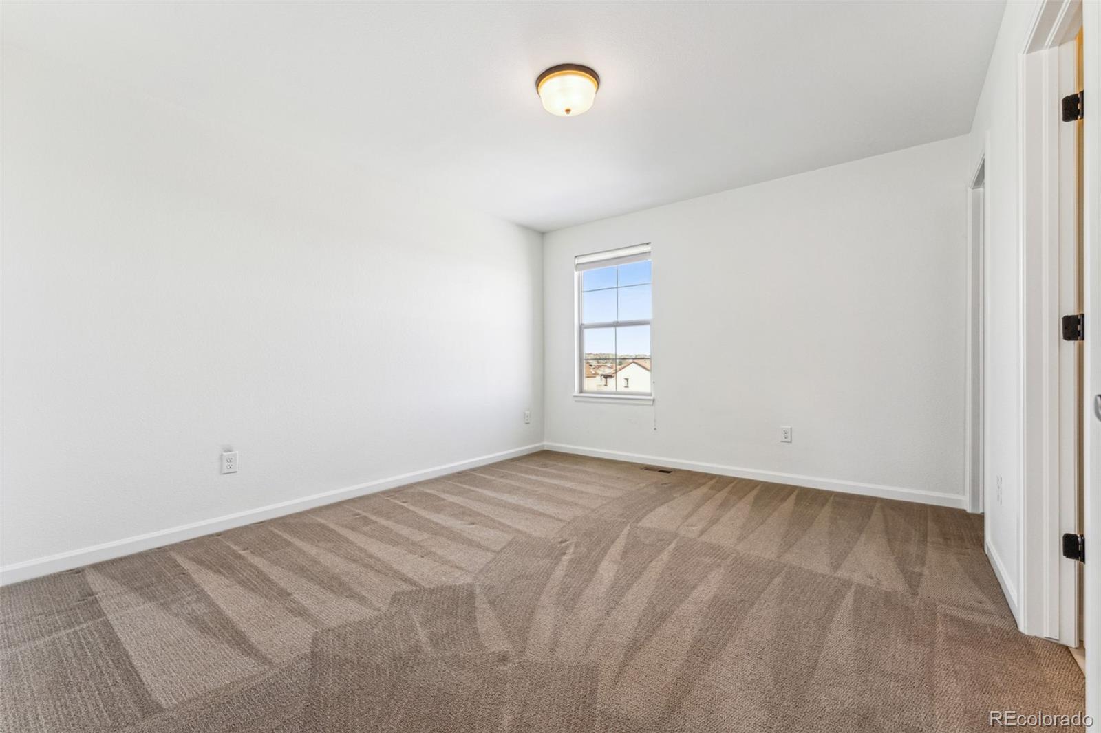
[[[581,394],[651,396],[650,244],[575,258]]]

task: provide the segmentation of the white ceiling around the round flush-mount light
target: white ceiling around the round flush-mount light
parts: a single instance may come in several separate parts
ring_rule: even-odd
[[[6,3],[6,42],[547,231],[967,132],[1002,2]],[[543,111],[573,62],[587,114]]]

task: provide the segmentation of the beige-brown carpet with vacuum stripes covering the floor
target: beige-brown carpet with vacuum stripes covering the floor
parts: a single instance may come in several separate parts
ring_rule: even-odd
[[[981,535],[541,452],[3,588],[0,730],[955,733],[1081,710]]]

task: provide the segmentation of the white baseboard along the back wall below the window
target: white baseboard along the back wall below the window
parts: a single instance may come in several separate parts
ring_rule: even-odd
[[[934,504],[936,506],[967,508],[967,496],[963,494],[946,494],[936,491],[925,491],[924,489],[906,489],[903,486],[885,486],[879,483],[861,483],[859,481],[822,479],[815,475],[780,473],[777,471],[763,471],[761,469],[748,469],[738,466],[723,466],[721,463],[685,461],[679,458],[643,456],[641,453],[626,453],[619,450],[601,450],[599,448],[586,448],[585,446],[567,446],[560,442],[547,442],[544,444],[544,446],[547,450],[558,450],[564,453],[577,453],[579,456],[592,456],[595,458],[610,458],[618,461],[648,463],[666,468],[686,469],[688,471],[701,471],[704,473],[731,475],[739,479],[753,479],[754,481],[787,483],[796,486],[807,486],[810,489],[826,489],[827,491],[839,491],[846,494],[863,494],[864,496],[877,496],[880,499],[898,499],[906,502]]]

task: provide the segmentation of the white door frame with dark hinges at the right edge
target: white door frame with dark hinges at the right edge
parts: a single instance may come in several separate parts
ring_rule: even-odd
[[[1081,402],[1060,372],[1076,346],[1061,340],[1065,283],[1071,282],[1077,226],[1067,209],[1077,201],[1072,125],[1059,117],[1059,101],[1071,89],[1067,48],[1082,25],[1081,0],[1046,0],[1018,56],[1018,176],[1021,283],[1022,491],[1017,551],[1021,631],[1068,646],[1080,639],[1078,566],[1061,556],[1060,537],[1077,532],[1078,415]],[[1077,67],[1077,61],[1070,61]],[[1061,73],[1060,73],[1061,69]],[[1068,86],[1069,85],[1069,86]],[[1067,267],[1071,267],[1070,273]],[[1062,286],[1060,286],[1062,284]],[[1067,311],[1069,313],[1069,311]],[[1077,381],[1076,381],[1077,384]]]

